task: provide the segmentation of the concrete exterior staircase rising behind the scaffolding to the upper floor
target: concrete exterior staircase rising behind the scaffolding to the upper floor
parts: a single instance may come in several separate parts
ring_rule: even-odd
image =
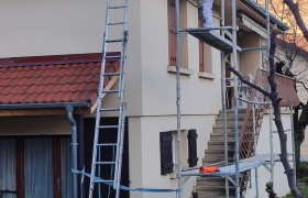
[[[245,109],[239,109],[239,132],[242,128],[245,116]],[[228,131],[228,148],[229,162],[233,162],[234,156],[234,111],[227,111],[227,131]],[[202,158],[204,166],[224,161],[224,134],[223,134],[223,113],[220,111],[216,118],[216,125],[208,142],[208,150],[205,151]],[[224,163],[217,165],[224,166]],[[221,177],[197,177],[196,190],[199,198],[224,198],[226,197],[226,179]],[[230,198],[234,198],[235,188],[229,185]]]

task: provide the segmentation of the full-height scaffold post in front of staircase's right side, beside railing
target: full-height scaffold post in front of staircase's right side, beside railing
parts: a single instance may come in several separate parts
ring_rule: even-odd
[[[238,51],[237,51],[237,1],[232,0],[232,46],[233,46],[233,67],[238,70]],[[234,135],[235,135],[235,198],[240,198],[240,168],[239,168],[239,96],[238,96],[238,77],[233,77],[233,98],[234,98]]]

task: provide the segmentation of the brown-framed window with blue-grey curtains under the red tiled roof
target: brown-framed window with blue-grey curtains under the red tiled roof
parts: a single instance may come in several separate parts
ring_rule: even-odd
[[[72,197],[70,138],[1,138],[0,151],[0,190],[10,190],[6,198]]]

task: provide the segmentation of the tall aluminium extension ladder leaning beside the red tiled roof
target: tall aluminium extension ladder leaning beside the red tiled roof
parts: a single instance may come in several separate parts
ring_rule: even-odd
[[[96,127],[95,127],[95,139],[94,139],[94,152],[92,152],[92,163],[91,163],[91,177],[90,177],[90,188],[89,188],[89,198],[92,198],[95,184],[108,183],[113,185],[113,189],[116,190],[116,198],[120,197],[120,182],[121,182],[121,169],[122,169],[122,155],[123,155],[123,140],[124,140],[124,125],[125,125],[125,103],[124,103],[124,86],[125,86],[125,61],[127,61],[127,44],[128,44],[128,31],[127,31],[127,19],[128,19],[128,0],[123,0],[123,6],[111,6],[111,0],[107,0],[107,11],[106,11],[106,23],[105,23],[105,33],[103,33],[103,43],[102,43],[102,61],[101,61],[101,70],[100,70],[100,82],[99,82],[99,92],[98,92],[98,106],[96,113]],[[112,10],[123,10],[124,16],[122,22],[110,22],[109,21],[109,12]],[[108,30],[109,26],[122,25],[123,33],[121,38],[108,38]],[[117,56],[108,56],[107,44],[121,43],[121,54]],[[106,61],[108,59],[120,59],[120,70],[116,73],[105,73]],[[114,90],[105,90],[105,77],[106,76],[119,76],[119,88]],[[109,94],[118,94],[119,97],[119,108],[101,108],[101,100],[105,95]],[[106,111],[116,111],[119,112],[119,122],[118,125],[100,125],[100,113]],[[99,133],[100,130],[110,130],[118,129],[118,136],[116,143],[99,143]],[[114,161],[111,162],[100,162],[97,160],[98,150],[101,147],[110,147],[112,146],[117,148],[117,152],[112,153],[112,158]],[[114,158],[116,155],[116,158]],[[111,180],[101,180],[96,177],[96,167],[100,166],[110,166],[111,175],[113,175],[113,179]],[[114,174],[113,172],[114,166]]]

